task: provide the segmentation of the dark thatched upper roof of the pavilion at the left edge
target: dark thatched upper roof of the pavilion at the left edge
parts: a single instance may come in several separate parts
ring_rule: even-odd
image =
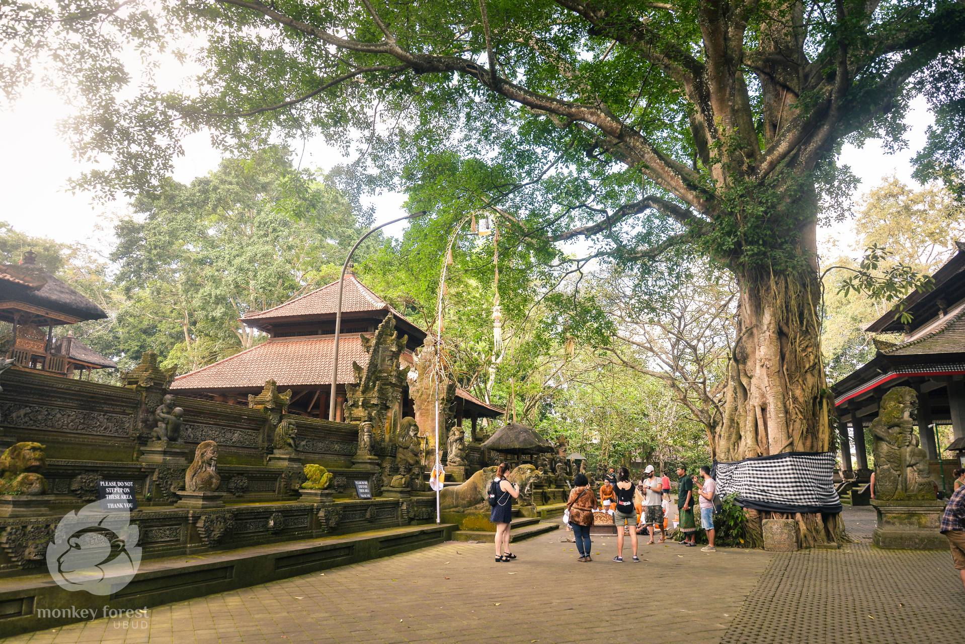
[[[99,320],[107,317],[100,307],[34,264],[0,265],[0,273],[9,276],[0,280],[0,300],[13,300],[58,313],[78,320]]]

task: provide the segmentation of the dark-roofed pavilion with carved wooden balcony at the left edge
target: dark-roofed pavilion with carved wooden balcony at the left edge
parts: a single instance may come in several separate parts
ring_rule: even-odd
[[[2,339],[14,367],[80,377],[94,369],[116,368],[72,334],[55,338],[54,327],[107,317],[102,309],[36,264],[32,251],[19,264],[0,265],[0,321],[9,327]]]

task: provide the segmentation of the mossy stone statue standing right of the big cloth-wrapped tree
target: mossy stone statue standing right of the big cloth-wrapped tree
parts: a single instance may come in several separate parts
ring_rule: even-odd
[[[917,411],[915,389],[896,387],[885,393],[878,417],[871,421],[878,500],[935,499],[928,455],[915,434]]]

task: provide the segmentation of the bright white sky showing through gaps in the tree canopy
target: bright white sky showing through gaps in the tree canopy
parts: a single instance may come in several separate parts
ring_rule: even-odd
[[[31,235],[51,237],[65,243],[84,243],[105,251],[110,246],[114,220],[124,214],[127,203],[96,203],[88,194],[72,194],[68,181],[80,171],[67,141],[58,133],[57,122],[71,114],[71,107],[59,94],[47,89],[26,92],[7,111],[0,111],[0,132],[3,132],[4,153],[0,155],[0,221]],[[872,141],[864,148],[847,146],[841,163],[851,167],[861,179],[855,194],[861,194],[879,184],[885,177],[898,178],[915,184],[911,179],[911,157],[924,143],[926,126],[933,121],[924,99],[913,102],[907,122],[909,147],[896,154],[884,151],[880,142]],[[302,142],[293,142],[300,152]],[[214,170],[221,154],[211,147],[207,136],[196,134],[183,142],[185,155],[176,162],[175,178],[188,182],[196,176]],[[328,148],[320,140],[305,142],[303,168],[323,171],[343,162],[339,152]],[[380,223],[400,216],[404,195],[385,194],[373,197],[375,222]],[[404,223],[387,228],[390,234],[400,234]],[[844,222],[819,232],[821,247],[827,252],[835,242],[847,250],[853,238],[851,222]],[[852,253],[857,249],[850,249]]]

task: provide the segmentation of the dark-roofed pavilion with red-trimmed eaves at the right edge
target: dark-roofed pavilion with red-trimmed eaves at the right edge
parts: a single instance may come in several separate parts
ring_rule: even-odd
[[[841,462],[844,470],[849,470],[849,443],[853,441],[860,481],[870,476],[864,428],[877,416],[882,396],[893,387],[918,391],[919,433],[936,473],[942,464],[935,425],[951,424],[954,441],[965,440],[965,244],[957,243],[957,253],[932,278],[932,289],[913,291],[865,329],[874,334],[901,334],[900,339],[874,338],[874,358],[832,389]],[[910,313],[911,322],[901,323],[898,311]],[[949,469],[951,463],[944,467]],[[845,477],[848,473],[845,471]]]

